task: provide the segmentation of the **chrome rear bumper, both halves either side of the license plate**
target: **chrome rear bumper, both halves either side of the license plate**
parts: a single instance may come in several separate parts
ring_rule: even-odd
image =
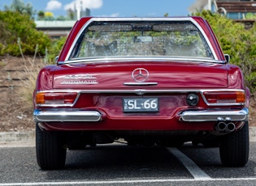
[[[180,120],[188,122],[202,121],[245,121],[248,120],[249,110],[244,108],[241,110],[202,110],[202,111],[184,111],[180,113]],[[102,120],[102,114],[98,111],[80,111],[80,110],[34,110],[33,117],[35,122],[50,121],[83,121],[96,122]]]

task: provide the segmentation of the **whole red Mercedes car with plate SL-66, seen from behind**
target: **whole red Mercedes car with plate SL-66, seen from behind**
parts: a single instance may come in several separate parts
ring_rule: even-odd
[[[249,91],[201,17],[82,18],[34,92],[37,163],[112,143],[219,146],[225,166],[249,154]]]

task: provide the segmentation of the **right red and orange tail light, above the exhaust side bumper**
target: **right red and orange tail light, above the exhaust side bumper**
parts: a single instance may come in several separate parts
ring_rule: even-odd
[[[208,104],[245,104],[244,91],[205,91]]]

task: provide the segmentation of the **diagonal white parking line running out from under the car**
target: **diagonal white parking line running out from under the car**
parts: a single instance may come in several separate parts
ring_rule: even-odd
[[[177,159],[179,159],[180,163],[188,169],[191,175],[195,180],[210,180],[210,176],[206,174],[205,171],[202,171],[200,167],[197,166],[188,156],[180,152],[180,150],[176,148],[167,148],[171,154],[173,154]]]

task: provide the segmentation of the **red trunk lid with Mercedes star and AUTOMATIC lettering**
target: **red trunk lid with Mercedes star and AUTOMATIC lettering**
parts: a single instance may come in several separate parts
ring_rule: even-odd
[[[187,89],[228,87],[222,64],[191,61],[123,61],[61,65],[54,89]]]

